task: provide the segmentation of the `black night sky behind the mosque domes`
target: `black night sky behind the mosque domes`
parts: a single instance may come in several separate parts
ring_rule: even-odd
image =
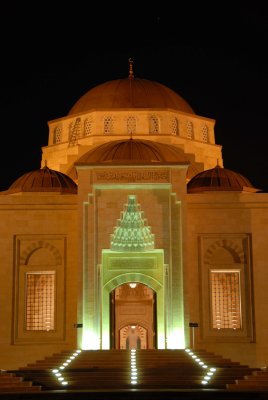
[[[40,167],[47,121],[90,88],[158,81],[216,120],[225,168],[268,192],[266,1],[9,1],[1,10],[0,190]],[[233,4],[232,4],[233,3]]]

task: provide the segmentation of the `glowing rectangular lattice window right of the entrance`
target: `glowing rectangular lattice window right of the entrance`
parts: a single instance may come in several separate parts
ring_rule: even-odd
[[[241,329],[240,271],[211,270],[213,329]]]

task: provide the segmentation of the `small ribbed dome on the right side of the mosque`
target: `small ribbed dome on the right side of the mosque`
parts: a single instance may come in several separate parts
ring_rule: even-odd
[[[220,166],[202,171],[187,184],[188,193],[206,191],[246,191],[259,192],[243,175]]]

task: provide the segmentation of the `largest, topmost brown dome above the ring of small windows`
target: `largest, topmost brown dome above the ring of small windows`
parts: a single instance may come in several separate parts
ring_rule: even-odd
[[[134,77],[95,86],[74,104],[69,115],[99,108],[171,108],[194,114],[190,105],[167,86]]]

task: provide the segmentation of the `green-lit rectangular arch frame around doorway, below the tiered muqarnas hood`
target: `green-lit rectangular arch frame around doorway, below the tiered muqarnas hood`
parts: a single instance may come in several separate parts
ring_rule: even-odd
[[[117,253],[103,250],[101,266],[101,348],[110,349],[111,342],[111,308],[110,293],[117,287],[137,282],[144,284],[155,292],[156,296],[156,339],[155,346],[165,348],[165,274],[163,250],[144,253]],[[117,265],[116,268],[111,268]],[[124,267],[125,265],[125,267]],[[135,272],[133,271],[135,270]]]

